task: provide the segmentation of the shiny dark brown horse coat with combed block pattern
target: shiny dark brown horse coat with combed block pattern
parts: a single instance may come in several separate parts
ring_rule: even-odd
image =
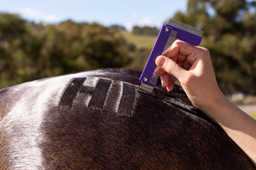
[[[99,70],[0,91],[0,169],[255,169],[179,87]]]

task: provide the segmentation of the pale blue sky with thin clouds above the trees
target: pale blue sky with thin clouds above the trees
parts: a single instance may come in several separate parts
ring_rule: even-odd
[[[157,26],[178,10],[186,11],[188,0],[0,0],[0,12],[20,14],[26,20],[55,24],[64,20],[133,26]]]

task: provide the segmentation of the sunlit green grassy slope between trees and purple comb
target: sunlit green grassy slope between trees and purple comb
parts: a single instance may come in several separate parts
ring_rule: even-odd
[[[121,31],[120,34],[125,37],[127,42],[133,43],[137,48],[153,48],[157,36],[135,35],[129,31]]]

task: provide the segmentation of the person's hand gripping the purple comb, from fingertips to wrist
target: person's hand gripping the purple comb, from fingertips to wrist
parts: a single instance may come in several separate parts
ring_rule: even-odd
[[[155,72],[161,77],[163,88],[171,91],[173,81],[170,76],[176,77],[191,103],[202,111],[223,96],[218,88],[207,48],[177,40],[164,55],[155,61],[161,69]]]

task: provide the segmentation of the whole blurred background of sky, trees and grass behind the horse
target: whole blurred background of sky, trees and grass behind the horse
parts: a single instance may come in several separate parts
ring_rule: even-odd
[[[98,68],[143,70],[167,20],[204,31],[218,84],[236,104],[256,99],[253,0],[0,0],[0,88]],[[255,110],[256,113],[256,110]]]

